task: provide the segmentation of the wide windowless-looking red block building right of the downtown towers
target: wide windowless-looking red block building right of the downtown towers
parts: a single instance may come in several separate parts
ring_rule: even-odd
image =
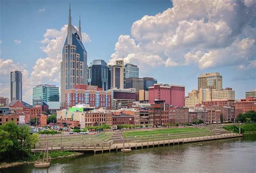
[[[185,86],[154,84],[154,86],[149,87],[149,103],[156,102],[184,107]]]

